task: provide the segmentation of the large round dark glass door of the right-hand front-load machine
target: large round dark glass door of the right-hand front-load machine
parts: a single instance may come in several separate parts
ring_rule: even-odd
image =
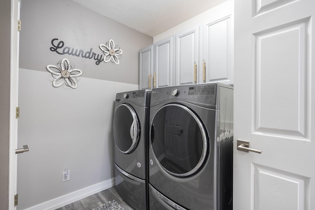
[[[153,118],[150,139],[158,163],[178,177],[198,171],[207,155],[207,135],[201,120],[188,107],[167,104]]]

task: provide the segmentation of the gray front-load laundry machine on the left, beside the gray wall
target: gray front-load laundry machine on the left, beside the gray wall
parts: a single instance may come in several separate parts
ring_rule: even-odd
[[[148,209],[148,120],[151,90],[116,94],[115,187],[134,209]]]

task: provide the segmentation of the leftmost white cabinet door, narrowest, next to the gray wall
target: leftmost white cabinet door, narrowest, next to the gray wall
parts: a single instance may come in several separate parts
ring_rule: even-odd
[[[139,89],[152,89],[153,45],[139,51]]]

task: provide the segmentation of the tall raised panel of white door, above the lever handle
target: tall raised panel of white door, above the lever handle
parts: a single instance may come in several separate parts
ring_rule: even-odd
[[[308,138],[309,22],[253,34],[255,132]]]

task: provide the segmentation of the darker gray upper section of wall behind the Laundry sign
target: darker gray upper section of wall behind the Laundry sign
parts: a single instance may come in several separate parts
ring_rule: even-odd
[[[152,37],[71,0],[23,1],[21,19],[20,67],[46,71],[46,65],[65,57],[84,71],[84,77],[139,84],[139,49],[153,43]],[[53,38],[62,40],[64,47],[74,48],[74,52],[81,49],[86,53],[93,48],[100,55],[103,54],[99,44],[113,39],[123,50],[122,59],[119,65],[111,62],[96,65],[94,59],[59,55],[50,51]]]

